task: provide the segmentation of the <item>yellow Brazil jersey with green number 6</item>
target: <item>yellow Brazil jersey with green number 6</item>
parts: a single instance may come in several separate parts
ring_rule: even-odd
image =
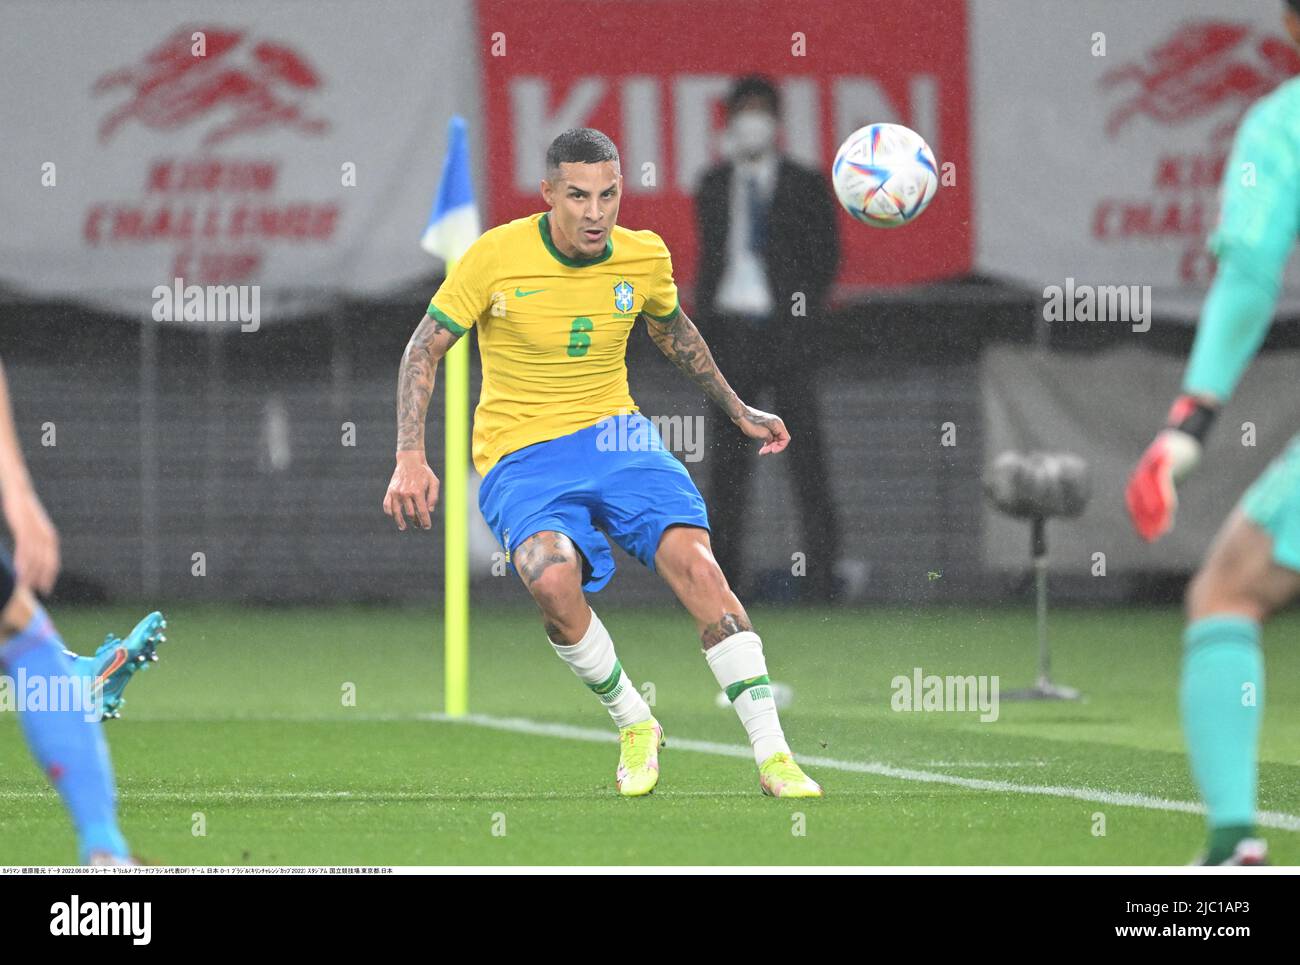
[[[429,303],[429,315],[458,334],[478,325],[473,456],[482,475],[517,449],[636,412],[632,324],[641,312],[677,311],[672,259],[654,231],[615,226],[604,254],[580,261],[555,247],[547,217],[486,231]]]

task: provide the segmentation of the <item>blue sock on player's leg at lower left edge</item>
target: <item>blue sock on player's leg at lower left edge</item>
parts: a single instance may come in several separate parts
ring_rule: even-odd
[[[17,694],[18,719],[27,747],[72,814],[81,860],[84,862],[95,852],[129,857],[126,841],[117,828],[113,767],[99,720],[87,719],[84,709],[55,704],[55,683],[70,679],[73,665],[44,610],[38,609],[22,632],[0,646],[0,662],[10,676],[21,670],[29,681],[43,678],[49,697],[46,706],[57,707],[26,710],[22,709],[25,694]]]

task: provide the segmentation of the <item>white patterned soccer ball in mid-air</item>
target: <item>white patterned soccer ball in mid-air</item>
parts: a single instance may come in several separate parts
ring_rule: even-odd
[[[935,196],[939,165],[916,131],[900,124],[868,124],[840,144],[831,181],[840,204],[858,221],[898,228]]]

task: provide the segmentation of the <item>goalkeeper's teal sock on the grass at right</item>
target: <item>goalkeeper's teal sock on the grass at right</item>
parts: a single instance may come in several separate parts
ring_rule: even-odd
[[[1183,636],[1180,706],[1192,775],[1210,826],[1209,864],[1254,832],[1264,657],[1260,624],[1208,616]]]

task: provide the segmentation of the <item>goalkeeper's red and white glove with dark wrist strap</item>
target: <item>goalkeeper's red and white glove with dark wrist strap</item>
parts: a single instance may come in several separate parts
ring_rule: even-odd
[[[1134,529],[1148,542],[1154,542],[1174,528],[1178,509],[1175,485],[1196,468],[1201,443],[1214,421],[1213,406],[1180,395],[1169,410],[1165,428],[1147,446],[1138,468],[1128,477],[1124,502]]]

